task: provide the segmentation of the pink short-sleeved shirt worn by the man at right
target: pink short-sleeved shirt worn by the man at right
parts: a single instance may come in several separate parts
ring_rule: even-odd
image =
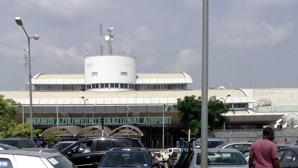
[[[252,143],[249,153],[255,155],[255,168],[273,168],[272,158],[278,158],[277,146],[274,142],[260,139]]]

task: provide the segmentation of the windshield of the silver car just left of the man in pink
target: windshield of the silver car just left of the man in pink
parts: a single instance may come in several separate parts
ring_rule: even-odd
[[[196,164],[201,165],[201,153],[197,154]],[[247,161],[238,152],[208,152],[208,165],[243,165]]]

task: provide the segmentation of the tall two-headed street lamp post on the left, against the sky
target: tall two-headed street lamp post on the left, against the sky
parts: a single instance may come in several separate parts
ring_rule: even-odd
[[[20,17],[15,18],[15,22],[22,26],[27,38],[28,38],[28,66],[29,66],[29,95],[30,95],[30,132],[31,132],[31,139],[33,140],[33,112],[32,112],[32,86],[31,86],[31,63],[30,63],[30,38],[34,38],[35,40],[39,39],[38,35],[34,35],[33,37],[29,37],[23,27],[23,23]]]

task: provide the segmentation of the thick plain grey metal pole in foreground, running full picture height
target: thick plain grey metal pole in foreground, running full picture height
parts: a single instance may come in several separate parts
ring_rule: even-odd
[[[208,166],[208,0],[203,0],[201,168]]]

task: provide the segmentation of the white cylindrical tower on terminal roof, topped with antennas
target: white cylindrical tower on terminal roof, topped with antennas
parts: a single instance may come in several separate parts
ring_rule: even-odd
[[[136,89],[136,58],[101,55],[84,60],[86,90],[119,92]]]

